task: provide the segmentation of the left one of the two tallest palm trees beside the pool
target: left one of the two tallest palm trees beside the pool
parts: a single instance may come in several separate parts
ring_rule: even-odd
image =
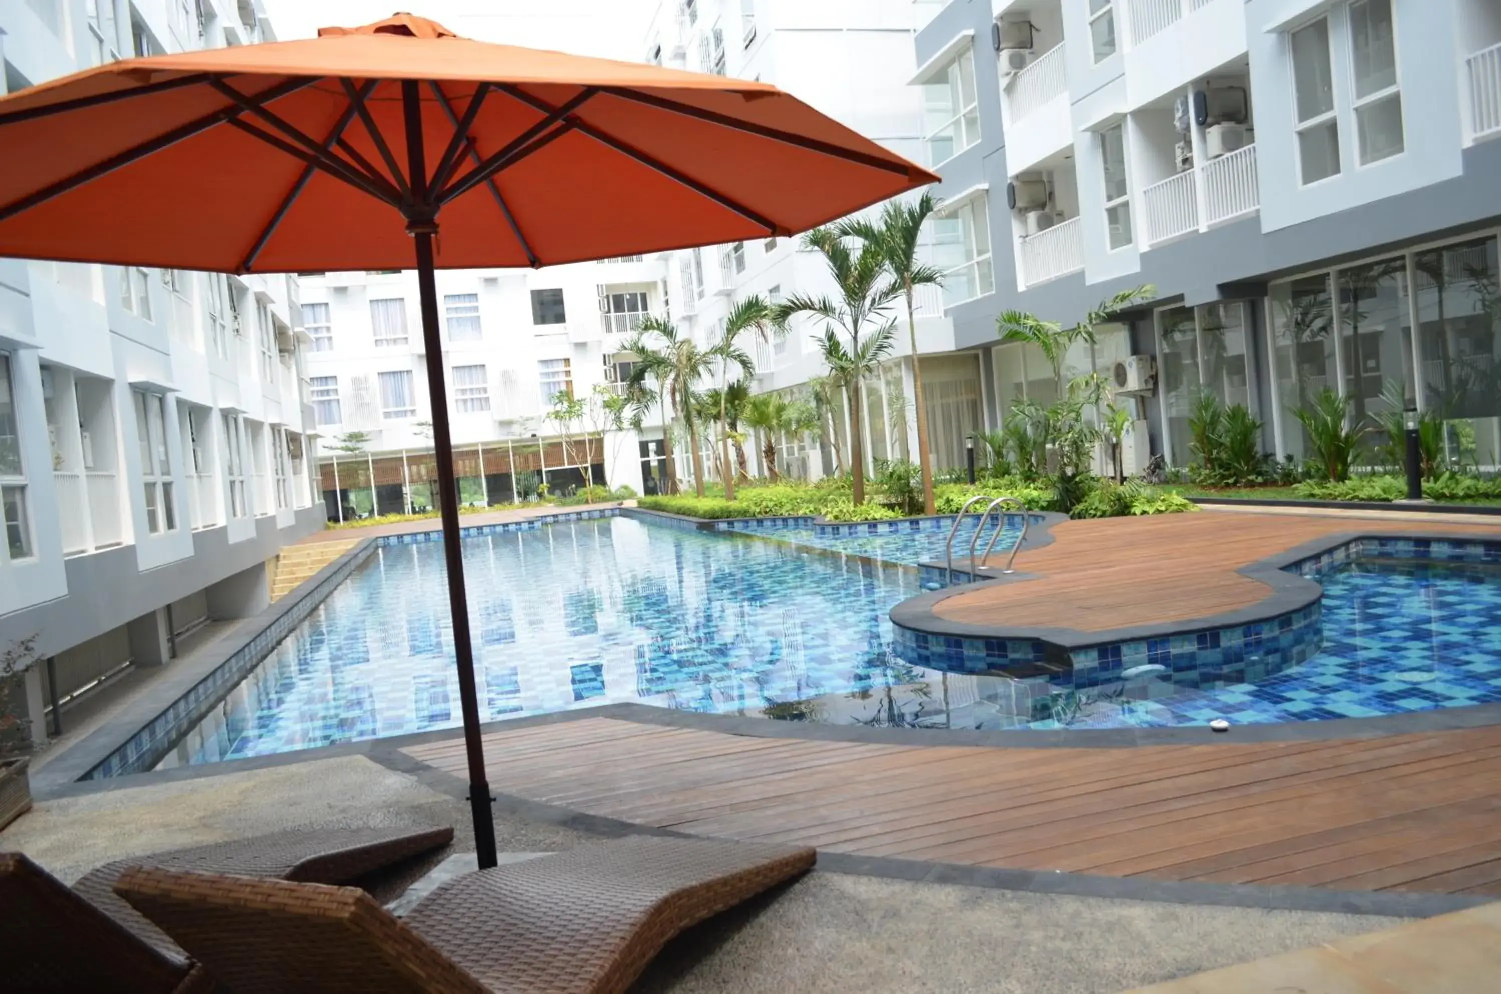
[[[845,388],[850,406],[850,478],[851,498],[865,502],[865,447],[860,432],[860,381],[880,370],[880,360],[892,351],[893,322],[886,316],[886,307],[902,294],[899,283],[886,280],[886,258],[871,243],[862,243],[857,252],[833,228],[815,228],[805,243],[824,256],[829,274],[835,280],[839,300],[829,297],[788,297],[775,309],[778,327],[787,327],[794,315],[811,315],[824,321],[820,349],[830,361],[829,372]],[[835,328],[844,334],[842,342]],[[836,346],[830,349],[830,342]],[[880,345],[883,343],[884,345]],[[878,343],[872,346],[871,343]],[[871,363],[869,360],[875,361]],[[833,363],[839,363],[836,369]],[[854,375],[854,370],[860,370]]]

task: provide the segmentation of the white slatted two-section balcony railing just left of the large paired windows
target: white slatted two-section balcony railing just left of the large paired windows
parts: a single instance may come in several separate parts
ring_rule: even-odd
[[[1256,145],[1153,183],[1142,190],[1141,199],[1147,214],[1142,247],[1252,214],[1261,207]]]

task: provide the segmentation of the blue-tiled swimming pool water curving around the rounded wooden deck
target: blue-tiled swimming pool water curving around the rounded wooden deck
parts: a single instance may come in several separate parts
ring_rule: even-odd
[[[1498,564],[1333,564],[1322,642],[1282,667],[1174,672],[1163,649],[1166,666],[1076,688],[1016,669],[917,666],[887,613],[920,592],[913,565],[941,558],[944,537],[612,517],[467,538],[482,718],[639,702],[833,724],[1100,729],[1501,700]],[[438,543],[377,549],[161,766],[456,727],[441,576]]]

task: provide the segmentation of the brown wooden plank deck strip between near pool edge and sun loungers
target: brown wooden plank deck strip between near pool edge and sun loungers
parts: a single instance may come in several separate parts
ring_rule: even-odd
[[[1501,897],[1501,727],[979,748],[584,718],[485,736],[495,790],[723,838],[1162,880]],[[405,750],[464,777],[456,741]]]

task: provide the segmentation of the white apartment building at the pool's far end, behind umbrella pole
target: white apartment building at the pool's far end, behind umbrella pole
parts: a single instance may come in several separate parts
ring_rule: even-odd
[[[525,498],[533,492],[527,475],[552,493],[572,492],[587,483],[590,466],[596,484],[656,492],[641,439],[629,429],[611,430],[597,391],[620,390],[632,358],[621,343],[642,316],[669,309],[665,271],[662,259],[641,256],[438,271],[443,370],[465,504]],[[429,357],[416,273],[305,274],[302,321],[311,336],[308,376],[329,517],[434,507]],[[548,417],[558,393],[582,402],[578,421]],[[659,424],[657,412],[651,421]],[[348,445],[356,433],[365,441]]]

